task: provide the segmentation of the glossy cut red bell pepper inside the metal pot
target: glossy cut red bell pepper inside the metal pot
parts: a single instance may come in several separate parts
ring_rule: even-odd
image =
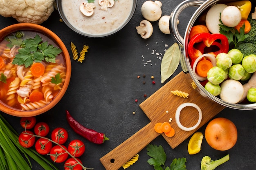
[[[218,55],[219,53],[227,53],[229,51],[229,41],[225,35],[199,33],[189,41],[188,53],[191,60],[195,60],[200,55],[204,54],[205,47],[217,46],[218,51],[211,51],[209,53]]]

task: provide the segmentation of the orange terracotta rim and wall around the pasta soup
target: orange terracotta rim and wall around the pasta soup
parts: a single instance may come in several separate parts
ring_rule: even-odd
[[[53,108],[63,97],[65,94],[67,87],[70,82],[71,77],[71,61],[70,61],[70,55],[67,51],[67,48],[65,44],[61,41],[58,36],[50,31],[49,29],[40,26],[38,24],[31,24],[31,23],[19,23],[19,24],[13,24],[11,26],[7,26],[4,29],[0,30],[0,42],[4,40],[4,38],[7,35],[10,35],[11,33],[16,33],[16,31],[32,31],[36,33],[40,33],[42,35],[45,35],[49,40],[54,42],[59,49],[62,50],[60,53],[63,56],[63,62],[65,63],[65,81],[62,83],[61,89],[54,95],[54,97],[47,102],[44,106],[37,107],[37,108],[31,108],[30,110],[24,110],[24,109],[18,109],[15,107],[8,106],[2,100],[0,100],[0,110],[4,113],[7,113],[9,115],[18,116],[18,117],[30,117],[30,116],[36,116],[42,113],[45,113],[46,111]],[[33,38],[33,37],[32,37]],[[0,54],[1,55],[1,54]],[[2,91],[3,87],[0,86],[0,91]],[[1,93],[0,93],[1,95]],[[17,94],[16,94],[17,97]]]

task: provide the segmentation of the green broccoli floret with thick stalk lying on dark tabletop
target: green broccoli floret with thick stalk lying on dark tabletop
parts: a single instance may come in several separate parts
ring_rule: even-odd
[[[209,156],[204,156],[201,161],[201,170],[214,170],[217,166],[229,160],[229,154],[225,157],[212,161]]]

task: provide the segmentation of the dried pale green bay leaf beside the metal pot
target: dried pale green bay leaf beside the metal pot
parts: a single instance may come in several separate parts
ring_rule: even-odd
[[[161,83],[164,83],[177,70],[180,64],[180,57],[180,46],[175,42],[164,53],[161,62]]]

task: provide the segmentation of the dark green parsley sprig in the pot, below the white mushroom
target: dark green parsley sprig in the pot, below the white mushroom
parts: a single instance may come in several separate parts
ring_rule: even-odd
[[[234,43],[234,47],[238,44],[238,42],[242,42],[247,38],[249,35],[245,34],[245,24],[240,28],[240,33],[234,27],[225,26],[221,19],[219,20],[221,24],[220,26],[220,33],[225,35],[230,43]]]

